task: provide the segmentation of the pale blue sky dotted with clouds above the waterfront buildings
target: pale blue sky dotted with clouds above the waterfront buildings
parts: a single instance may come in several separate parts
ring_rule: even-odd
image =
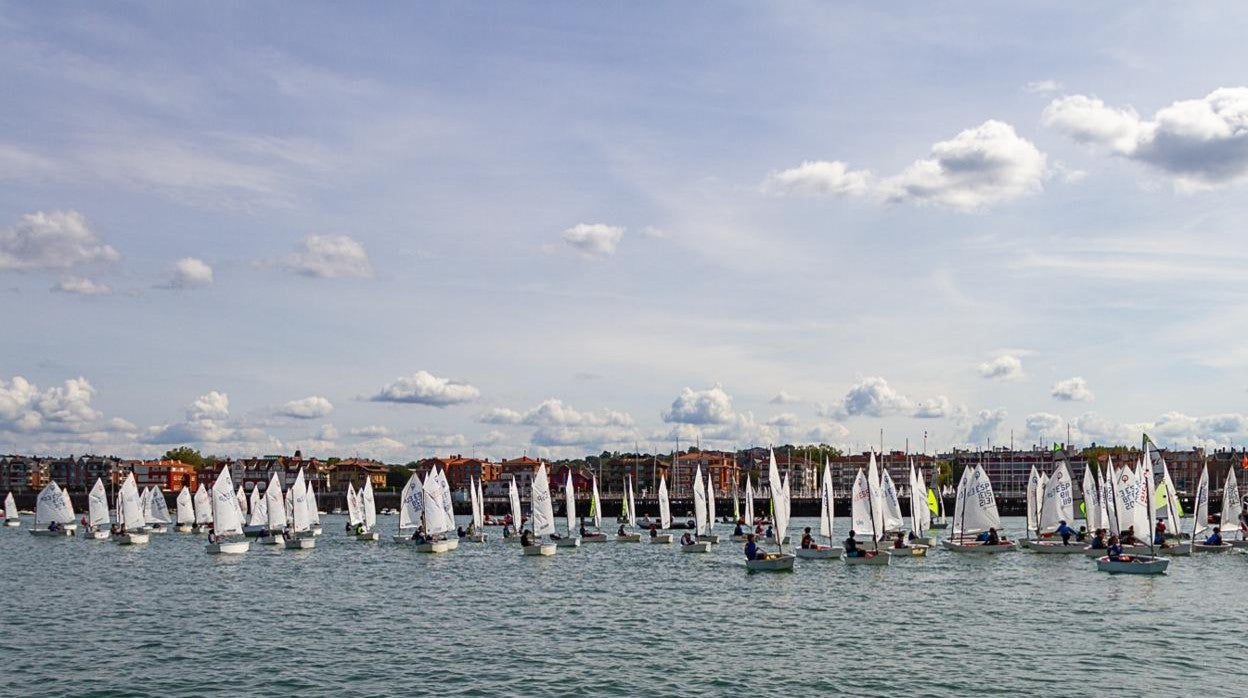
[[[1244,445],[1244,35],[0,2],[0,452]]]

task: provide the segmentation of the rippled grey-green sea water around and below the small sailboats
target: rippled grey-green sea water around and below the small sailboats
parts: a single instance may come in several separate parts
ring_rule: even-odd
[[[0,529],[6,696],[1242,694],[1248,556],[1109,577],[1083,556],[887,568],[739,546],[589,544],[525,558],[348,541],[207,556]],[[795,519],[795,531],[814,521]],[[844,521],[841,533],[844,534]],[[723,533],[728,533],[723,527]],[[1020,532],[1022,522],[1007,522]],[[490,533],[498,536],[498,529]],[[725,536],[726,539],[726,536]]]

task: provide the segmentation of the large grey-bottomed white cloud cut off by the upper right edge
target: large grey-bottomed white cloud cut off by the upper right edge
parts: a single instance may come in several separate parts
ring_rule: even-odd
[[[1071,95],[1053,100],[1043,120],[1076,141],[1156,167],[1184,189],[1248,176],[1248,87],[1176,101],[1148,120],[1131,107]]]

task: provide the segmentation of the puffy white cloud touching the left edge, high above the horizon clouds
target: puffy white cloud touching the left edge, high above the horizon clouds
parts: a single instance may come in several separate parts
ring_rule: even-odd
[[[0,271],[70,268],[120,258],[77,211],[26,214],[15,226],[0,229]]]

